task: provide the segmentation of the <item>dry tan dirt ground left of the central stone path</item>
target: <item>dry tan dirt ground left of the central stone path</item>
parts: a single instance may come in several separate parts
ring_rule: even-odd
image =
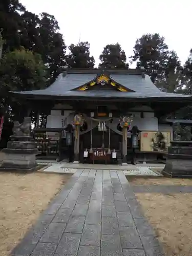
[[[0,173],[0,255],[7,256],[71,175]]]

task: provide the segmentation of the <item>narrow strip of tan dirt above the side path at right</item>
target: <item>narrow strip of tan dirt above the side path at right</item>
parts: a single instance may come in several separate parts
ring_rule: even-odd
[[[171,179],[171,178],[127,178],[132,185],[181,185],[192,186],[192,179]]]

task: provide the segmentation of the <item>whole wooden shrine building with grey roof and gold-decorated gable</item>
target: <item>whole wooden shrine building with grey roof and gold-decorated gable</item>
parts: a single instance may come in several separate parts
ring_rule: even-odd
[[[60,161],[71,151],[75,163],[126,164],[133,152],[163,161],[173,134],[161,119],[192,99],[161,92],[142,69],[66,68],[46,89],[11,93],[36,113],[37,158]]]

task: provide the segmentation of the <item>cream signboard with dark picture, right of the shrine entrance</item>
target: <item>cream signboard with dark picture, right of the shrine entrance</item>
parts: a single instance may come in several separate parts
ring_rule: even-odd
[[[170,145],[170,132],[145,131],[140,134],[140,151],[166,152]]]

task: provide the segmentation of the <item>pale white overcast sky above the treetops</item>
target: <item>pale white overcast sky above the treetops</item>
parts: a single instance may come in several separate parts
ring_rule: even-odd
[[[185,62],[192,48],[191,0],[20,0],[28,11],[56,17],[66,45],[89,41],[99,63],[106,44],[119,42],[127,59],[138,37],[160,33]],[[133,67],[133,66],[132,66]]]

